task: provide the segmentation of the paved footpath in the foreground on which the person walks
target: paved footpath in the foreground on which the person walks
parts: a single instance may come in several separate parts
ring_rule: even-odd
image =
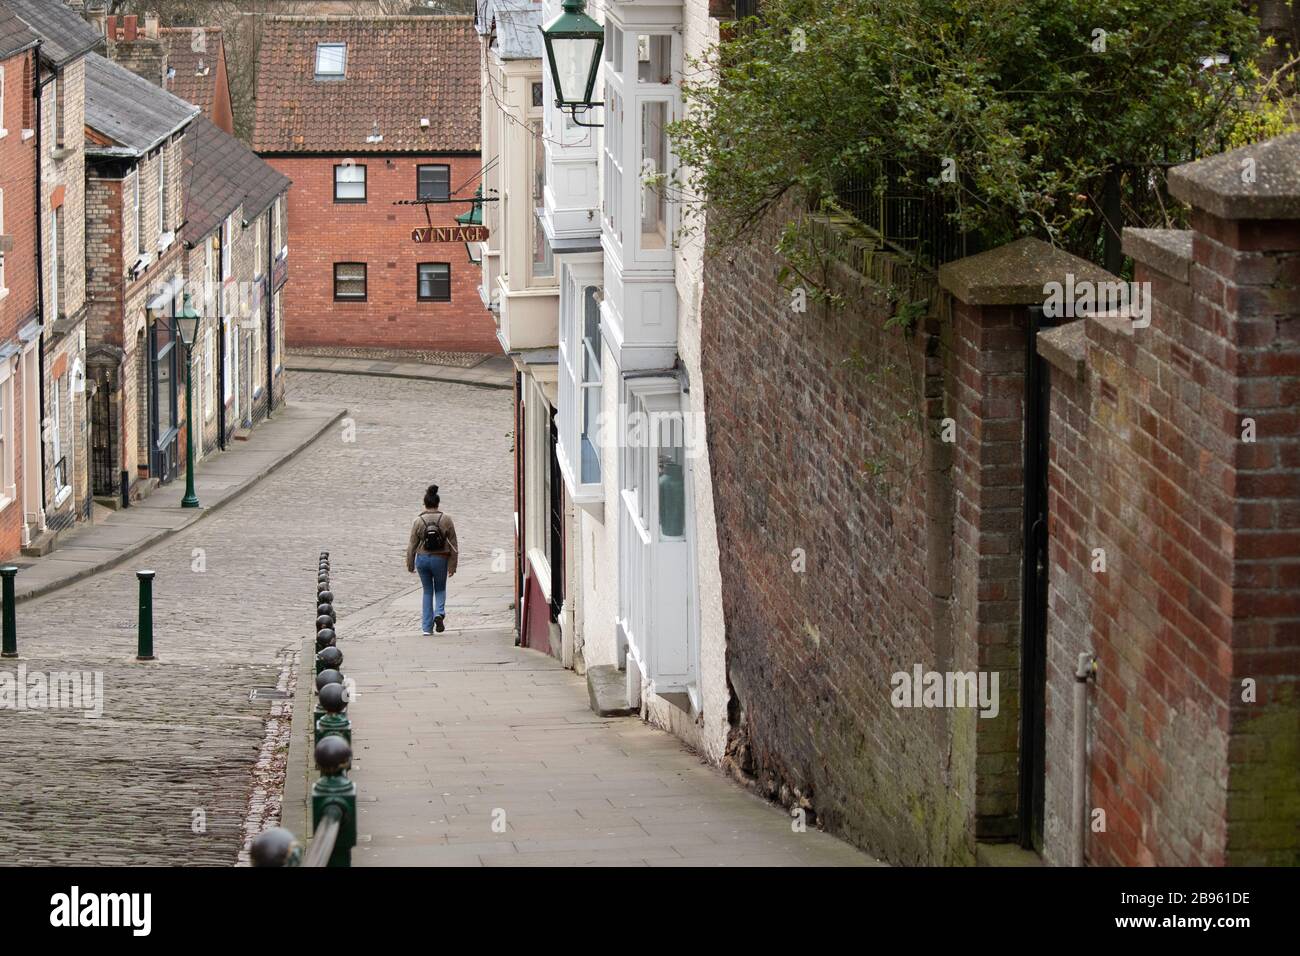
[[[462,568],[445,633],[420,635],[417,591],[339,620],[358,691],[354,865],[875,864],[796,832],[640,718],[593,714],[581,678],[515,646],[508,574]]]

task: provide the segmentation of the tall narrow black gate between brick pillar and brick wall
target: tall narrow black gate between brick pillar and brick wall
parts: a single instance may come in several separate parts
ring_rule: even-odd
[[[1020,588],[1020,845],[1043,851],[1046,782],[1048,421],[1050,367],[1037,333],[1060,324],[1028,311],[1024,365],[1024,567]]]

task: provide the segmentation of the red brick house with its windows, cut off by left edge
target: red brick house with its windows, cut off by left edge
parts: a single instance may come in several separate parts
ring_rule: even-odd
[[[23,511],[39,507],[40,498],[39,381],[23,375],[35,367],[40,328],[32,133],[36,43],[35,34],[0,5],[0,559],[26,544]]]

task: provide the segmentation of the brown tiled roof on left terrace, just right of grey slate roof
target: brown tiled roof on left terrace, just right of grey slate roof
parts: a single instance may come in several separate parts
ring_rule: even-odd
[[[185,137],[185,176],[181,237],[191,245],[220,226],[240,203],[244,219],[251,220],[290,185],[287,176],[203,116]]]

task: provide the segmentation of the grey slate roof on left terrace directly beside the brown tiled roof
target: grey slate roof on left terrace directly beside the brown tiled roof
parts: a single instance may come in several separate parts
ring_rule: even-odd
[[[198,114],[198,107],[125,66],[99,53],[86,57],[86,125],[122,147],[109,152],[143,156]]]

